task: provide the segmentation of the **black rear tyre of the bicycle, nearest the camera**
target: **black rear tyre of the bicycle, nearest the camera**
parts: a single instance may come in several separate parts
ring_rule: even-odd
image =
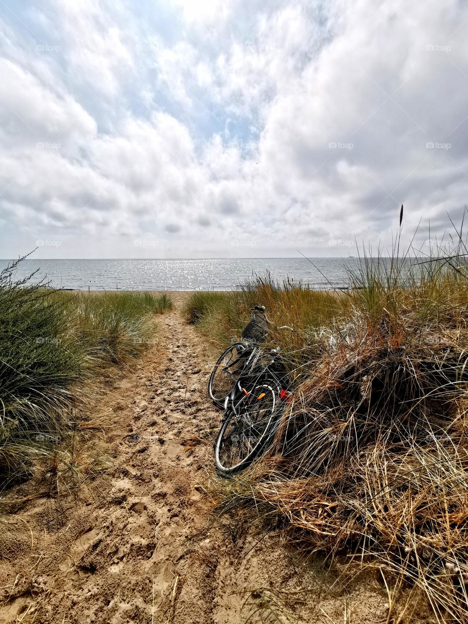
[[[270,401],[270,406],[268,406],[268,414],[265,416],[265,424],[263,426],[263,431],[261,431],[260,436],[256,439],[255,446],[251,448],[251,451],[246,454],[240,461],[233,462],[233,465],[226,465],[225,459],[222,459],[222,449],[225,444],[238,444],[238,446],[243,446],[245,441],[243,437],[243,433],[245,431],[245,427],[242,428],[241,434],[228,432],[228,427],[232,426],[233,420],[239,420],[241,417],[237,416],[235,412],[231,411],[227,419],[223,421],[220,431],[215,440],[215,470],[222,477],[230,477],[231,475],[239,472],[240,470],[245,469],[247,466],[250,466],[251,462],[258,457],[261,452],[265,450],[267,442],[270,440],[271,435],[275,432],[276,422],[278,421],[278,414],[276,412],[276,402],[278,398],[278,392],[276,388],[276,383],[273,380],[270,380],[270,383],[262,383],[256,386],[255,394],[259,396],[256,397],[255,400],[260,400],[261,393],[268,392],[268,400]],[[252,394],[252,393],[251,393]],[[248,397],[246,397],[246,401]],[[248,410],[246,410],[245,414],[248,414]],[[244,417],[244,416],[242,416]],[[251,429],[253,427],[251,426]],[[237,439],[233,439],[236,436]],[[240,440],[238,439],[240,438]]]

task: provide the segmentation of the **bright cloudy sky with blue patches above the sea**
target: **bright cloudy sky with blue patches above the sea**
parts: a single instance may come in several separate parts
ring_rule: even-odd
[[[2,258],[348,256],[402,203],[426,251],[468,204],[466,0],[0,0],[0,31]]]

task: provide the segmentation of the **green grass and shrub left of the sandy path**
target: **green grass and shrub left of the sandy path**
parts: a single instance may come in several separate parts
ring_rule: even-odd
[[[53,451],[73,426],[82,384],[157,341],[167,295],[76,293],[0,274],[0,472],[7,482]]]

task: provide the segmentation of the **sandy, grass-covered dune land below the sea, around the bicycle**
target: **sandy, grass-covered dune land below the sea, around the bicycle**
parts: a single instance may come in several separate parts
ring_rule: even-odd
[[[361,263],[338,296],[269,278],[4,280],[0,622],[422,624],[434,604],[460,619],[468,288],[449,268]],[[249,452],[259,425],[253,407],[217,409],[208,377],[254,305],[271,321],[255,388],[278,397],[275,429],[226,478],[222,423]]]

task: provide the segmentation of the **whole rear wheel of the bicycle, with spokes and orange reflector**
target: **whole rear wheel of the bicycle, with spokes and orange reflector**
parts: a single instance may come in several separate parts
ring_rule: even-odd
[[[266,446],[276,424],[276,386],[262,383],[238,398],[238,412],[223,422],[215,441],[215,467],[228,476],[243,470]]]

